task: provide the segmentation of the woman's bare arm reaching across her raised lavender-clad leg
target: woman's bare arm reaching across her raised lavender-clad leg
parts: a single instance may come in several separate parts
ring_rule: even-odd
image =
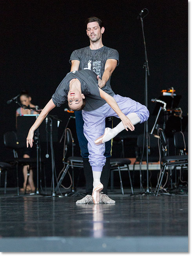
[[[123,112],[121,111],[121,109],[119,108],[116,100],[110,96],[108,93],[105,93],[105,91],[101,90],[99,88],[100,91],[100,96],[101,98],[103,98],[104,100],[106,100],[106,102],[109,104],[109,106],[117,113],[117,115],[120,117],[121,121],[123,122],[123,125],[125,127],[125,130],[128,131],[127,128],[129,128],[131,131],[134,131],[134,125],[132,124],[132,122],[130,121],[130,119],[128,117],[126,117],[126,115],[123,114]]]

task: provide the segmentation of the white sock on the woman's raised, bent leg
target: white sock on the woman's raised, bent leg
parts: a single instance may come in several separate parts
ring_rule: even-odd
[[[138,115],[133,112],[127,115],[127,117],[130,119],[133,125],[138,124],[138,122],[141,122],[141,119],[138,117]],[[110,139],[114,138],[117,134],[119,134],[121,131],[125,129],[123,122],[121,121],[116,127],[111,129],[108,134],[104,137],[103,142],[109,141]]]

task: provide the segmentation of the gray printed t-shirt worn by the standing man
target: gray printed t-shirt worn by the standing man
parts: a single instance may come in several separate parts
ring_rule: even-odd
[[[91,50],[89,46],[74,50],[71,54],[69,62],[72,60],[79,60],[79,70],[89,69],[94,73],[99,75],[100,78],[103,76],[105,71],[105,63],[107,59],[116,59],[117,66],[119,65],[119,53],[117,50],[103,46],[96,50]],[[110,86],[110,78],[106,83],[107,86]]]

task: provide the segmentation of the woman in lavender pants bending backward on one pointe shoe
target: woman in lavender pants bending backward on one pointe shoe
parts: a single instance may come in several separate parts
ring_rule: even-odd
[[[104,131],[103,138],[109,135],[107,140],[112,139],[116,132],[119,133],[123,129],[129,128],[133,131],[134,124],[144,122],[149,118],[149,111],[139,102],[115,95],[107,85],[100,89],[97,75],[89,69],[69,72],[30,128],[27,147],[33,146],[34,130],[42,123],[49,111],[55,106],[61,106],[65,101],[68,101],[69,107],[75,111],[83,108],[83,129],[88,141],[89,162],[93,175],[92,200],[94,204],[98,204],[100,191],[103,189],[100,177],[106,161],[105,144],[101,145],[98,137],[102,136]],[[105,129],[105,118],[110,116],[119,117],[122,122],[108,132]]]

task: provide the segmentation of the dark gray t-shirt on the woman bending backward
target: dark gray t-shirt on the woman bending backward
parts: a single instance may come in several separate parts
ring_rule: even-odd
[[[103,106],[106,101],[100,96],[97,75],[89,69],[69,72],[57,87],[52,96],[53,103],[59,107],[67,101],[67,94],[69,92],[69,82],[77,78],[81,83],[82,93],[85,95],[86,104],[83,108],[85,111],[92,111]],[[105,85],[103,91],[110,96],[114,96],[112,89]]]

